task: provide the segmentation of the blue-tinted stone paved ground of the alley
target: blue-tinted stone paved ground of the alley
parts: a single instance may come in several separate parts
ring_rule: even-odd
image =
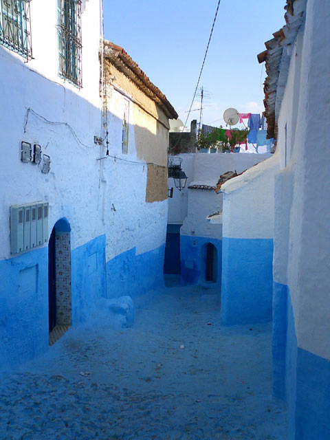
[[[285,440],[270,325],[221,328],[218,296],[203,287],[135,306],[131,329],[102,315],[3,375],[0,439]]]

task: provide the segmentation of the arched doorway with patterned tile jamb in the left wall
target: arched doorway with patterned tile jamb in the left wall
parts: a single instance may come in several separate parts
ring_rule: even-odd
[[[58,220],[48,243],[48,318],[50,345],[72,324],[71,228],[67,219]]]

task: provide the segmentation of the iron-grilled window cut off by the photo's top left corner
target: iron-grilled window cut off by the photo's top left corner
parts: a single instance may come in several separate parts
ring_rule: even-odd
[[[0,0],[0,44],[32,58],[30,0]]]

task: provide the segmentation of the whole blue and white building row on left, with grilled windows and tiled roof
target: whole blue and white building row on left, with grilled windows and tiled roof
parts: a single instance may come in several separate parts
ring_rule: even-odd
[[[105,46],[100,0],[0,0],[2,368],[162,282],[177,114]]]

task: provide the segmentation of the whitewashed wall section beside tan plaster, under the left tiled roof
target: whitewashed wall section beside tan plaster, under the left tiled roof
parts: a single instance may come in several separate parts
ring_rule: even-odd
[[[146,203],[146,162],[137,157],[133,102],[115,89],[108,92],[109,157],[100,162],[104,212],[107,212],[107,260],[136,247],[142,254],[164,244],[166,239],[167,200]],[[128,154],[122,153],[122,117],[124,101],[129,101]],[[145,114],[146,119],[150,118]],[[164,144],[164,150],[166,145]]]

